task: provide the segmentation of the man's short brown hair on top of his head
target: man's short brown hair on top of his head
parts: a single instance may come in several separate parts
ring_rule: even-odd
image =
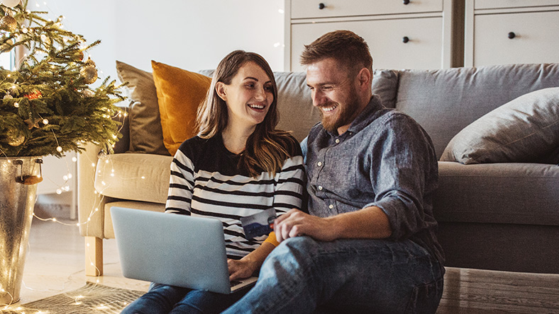
[[[372,57],[367,42],[350,30],[335,30],[305,45],[301,53],[301,65],[326,58],[335,59],[350,71],[367,68],[372,73]]]

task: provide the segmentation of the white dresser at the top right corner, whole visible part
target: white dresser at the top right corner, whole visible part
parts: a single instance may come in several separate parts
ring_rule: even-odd
[[[465,66],[559,62],[559,0],[466,0]]]

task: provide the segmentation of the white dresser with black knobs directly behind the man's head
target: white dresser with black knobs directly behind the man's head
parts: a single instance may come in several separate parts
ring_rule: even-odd
[[[332,30],[369,44],[375,69],[440,69],[453,64],[453,0],[286,0],[285,69]],[[455,30],[458,33],[461,30]]]

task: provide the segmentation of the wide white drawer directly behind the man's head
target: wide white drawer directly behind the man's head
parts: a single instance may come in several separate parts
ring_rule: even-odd
[[[367,41],[375,69],[440,69],[443,18],[404,18],[291,26],[291,70],[302,71],[299,57],[304,45],[333,30],[353,30]],[[409,41],[404,43],[403,38]]]

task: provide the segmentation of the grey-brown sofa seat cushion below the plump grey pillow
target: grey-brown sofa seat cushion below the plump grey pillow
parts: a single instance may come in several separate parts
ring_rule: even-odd
[[[559,226],[559,166],[438,163],[437,221]]]

